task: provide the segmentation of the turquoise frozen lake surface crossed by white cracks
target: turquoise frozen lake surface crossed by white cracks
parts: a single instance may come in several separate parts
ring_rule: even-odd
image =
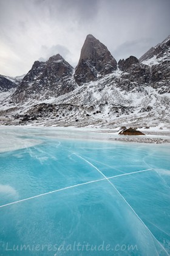
[[[93,137],[1,129],[0,255],[170,253],[169,145]]]

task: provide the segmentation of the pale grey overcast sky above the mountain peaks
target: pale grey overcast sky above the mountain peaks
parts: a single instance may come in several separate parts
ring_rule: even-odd
[[[118,61],[170,34],[170,0],[0,0],[0,74],[26,74],[61,54],[76,66],[87,34]]]

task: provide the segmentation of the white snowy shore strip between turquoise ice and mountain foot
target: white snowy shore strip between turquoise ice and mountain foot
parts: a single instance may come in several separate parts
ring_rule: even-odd
[[[101,127],[45,127],[45,126],[0,126],[0,152],[15,151],[43,143],[45,139],[97,140],[122,143],[170,143],[170,130],[151,127],[139,129],[145,135],[119,135],[118,128]]]

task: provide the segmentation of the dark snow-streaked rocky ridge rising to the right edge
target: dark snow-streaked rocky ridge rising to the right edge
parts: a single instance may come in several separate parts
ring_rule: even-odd
[[[140,90],[142,87],[151,86],[159,94],[170,92],[170,37],[161,44],[151,48],[140,58],[135,57],[120,60],[118,67],[121,77],[117,79],[117,87],[122,90]]]

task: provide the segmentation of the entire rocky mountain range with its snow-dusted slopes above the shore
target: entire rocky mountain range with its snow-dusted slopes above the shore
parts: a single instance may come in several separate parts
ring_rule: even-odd
[[[33,64],[1,100],[1,124],[170,127],[169,64],[170,37],[117,63],[87,35],[75,71],[60,54]]]

